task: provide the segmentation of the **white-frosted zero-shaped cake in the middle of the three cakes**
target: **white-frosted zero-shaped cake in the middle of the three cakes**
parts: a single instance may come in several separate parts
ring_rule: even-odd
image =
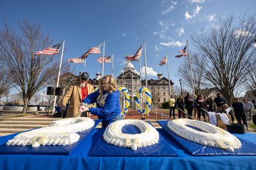
[[[124,125],[134,125],[141,131],[140,134],[125,134],[122,133],[122,127]],[[116,146],[122,146],[137,150],[137,148],[150,146],[158,143],[159,133],[152,125],[141,120],[118,120],[108,125],[106,131],[103,134],[103,138],[107,143]],[[138,139],[140,143],[137,145],[127,145],[127,139]]]

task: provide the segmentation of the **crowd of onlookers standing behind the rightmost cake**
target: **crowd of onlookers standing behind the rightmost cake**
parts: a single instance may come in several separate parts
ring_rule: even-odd
[[[213,100],[211,97],[202,97],[199,96],[190,96],[189,92],[184,97],[180,96],[175,99],[173,96],[169,99],[169,106],[170,106],[170,118],[175,117],[175,108],[178,110],[178,117],[184,118],[186,114],[184,110],[187,110],[187,115],[189,117],[193,117],[195,120],[201,120],[201,115],[204,118],[204,122],[207,122],[205,119],[205,112],[206,111],[214,111],[218,113],[226,113],[230,115],[232,122],[234,123],[234,116],[231,110],[227,111],[228,106],[227,101],[224,97],[221,97],[221,94],[218,93],[217,97]],[[234,115],[237,119],[237,123],[243,124],[248,127],[246,117],[249,117],[250,122],[252,122],[252,110],[254,108],[253,104],[246,99],[243,99],[243,102],[240,102],[239,99],[236,97],[234,98],[234,103],[232,103],[232,108],[234,111]]]

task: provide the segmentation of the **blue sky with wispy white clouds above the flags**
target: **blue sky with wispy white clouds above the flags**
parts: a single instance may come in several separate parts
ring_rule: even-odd
[[[0,28],[6,20],[12,27],[28,18],[42,25],[54,43],[65,39],[63,60],[80,57],[92,46],[106,40],[105,55],[115,52],[114,76],[124,68],[124,54],[134,54],[146,41],[149,78],[163,73],[167,78],[166,66],[159,66],[165,53],[169,56],[170,78],[178,84],[175,76],[183,59],[175,58],[189,41],[191,52],[195,51],[191,34],[209,31],[217,22],[217,16],[255,13],[254,0],[186,0],[186,1],[14,1],[2,0],[0,5]],[[86,71],[91,78],[100,71],[99,54],[86,60]],[[144,60],[144,59],[143,59]],[[139,63],[132,62],[139,71]],[[76,74],[83,71],[83,64],[73,64]],[[104,74],[111,74],[111,64],[105,64]],[[143,64],[142,64],[143,66]]]

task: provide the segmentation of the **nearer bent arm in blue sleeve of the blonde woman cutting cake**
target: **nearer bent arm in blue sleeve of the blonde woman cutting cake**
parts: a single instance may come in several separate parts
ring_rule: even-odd
[[[116,103],[118,103],[119,97],[115,92],[108,95],[103,108],[89,108],[92,115],[105,116],[116,109]]]

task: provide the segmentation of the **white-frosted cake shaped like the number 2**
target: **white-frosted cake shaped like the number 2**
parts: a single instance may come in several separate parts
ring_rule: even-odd
[[[92,118],[65,118],[51,122],[48,127],[22,132],[13,139],[8,140],[6,145],[32,145],[37,147],[37,142],[33,142],[35,137],[44,138],[41,145],[72,145],[80,138],[76,132],[85,131],[92,128],[94,121]]]

